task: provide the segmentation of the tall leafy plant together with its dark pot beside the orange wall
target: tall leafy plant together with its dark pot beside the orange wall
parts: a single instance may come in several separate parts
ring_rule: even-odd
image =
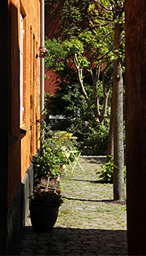
[[[48,137],[45,137],[41,156],[33,159],[35,187],[30,197],[30,217],[32,228],[36,231],[51,231],[58,218],[62,196],[60,190],[50,185],[49,181],[58,176],[63,164],[67,163],[63,146],[71,146],[70,138],[64,137],[64,133],[49,132]]]

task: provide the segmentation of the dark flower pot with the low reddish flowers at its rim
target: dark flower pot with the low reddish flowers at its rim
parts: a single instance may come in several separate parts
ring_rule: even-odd
[[[30,197],[30,217],[35,231],[52,231],[62,204],[60,190],[34,188]]]

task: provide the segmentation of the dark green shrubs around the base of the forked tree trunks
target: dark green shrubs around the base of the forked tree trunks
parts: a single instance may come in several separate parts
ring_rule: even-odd
[[[74,84],[76,78],[73,75],[74,73],[70,73],[70,76],[63,77],[65,82],[59,85],[61,89],[58,90],[58,93],[56,93],[55,97],[52,97],[53,101],[51,101],[50,105],[47,107],[49,108],[49,111],[51,111],[51,114],[62,114],[65,116],[65,118],[71,119],[68,129],[73,132],[76,137],[78,137],[80,150],[86,150],[86,152],[90,151],[92,152],[92,154],[96,155],[106,154],[109,133],[110,110],[107,110],[104,124],[98,126],[95,125],[92,122],[90,112],[88,111],[88,107],[86,105],[86,102],[84,101],[84,97],[79,93],[79,85]],[[108,73],[107,76],[109,76]],[[89,97],[92,99],[92,108],[94,109],[92,87],[89,85],[90,77],[86,77],[86,83],[86,89],[88,91]],[[102,104],[103,94],[101,82],[98,83],[98,93],[100,104]],[[84,122],[86,120],[88,120],[89,126],[94,128],[95,132],[92,132],[92,129],[89,129],[84,125]],[[67,127],[65,123],[66,122],[63,120],[59,121],[57,124],[52,124],[52,128],[54,130],[65,130],[65,128]]]

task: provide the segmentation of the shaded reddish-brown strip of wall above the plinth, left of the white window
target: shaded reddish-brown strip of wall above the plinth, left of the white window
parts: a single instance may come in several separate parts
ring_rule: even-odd
[[[21,183],[18,18],[18,10],[11,3],[9,6],[9,133],[11,137],[15,137],[15,140],[9,144],[9,204]]]

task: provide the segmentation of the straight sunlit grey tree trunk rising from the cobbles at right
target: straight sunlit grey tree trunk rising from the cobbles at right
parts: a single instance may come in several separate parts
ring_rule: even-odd
[[[114,47],[122,47],[122,24],[114,27]],[[123,109],[122,109],[122,62],[114,60],[113,86],[113,115],[114,115],[114,200],[122,200],[124,196],[124,150],[123,150]]]

